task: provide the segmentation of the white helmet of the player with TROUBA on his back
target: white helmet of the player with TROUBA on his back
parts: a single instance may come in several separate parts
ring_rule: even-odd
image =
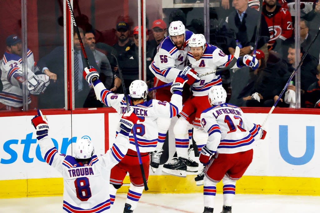
[[[88,138],[78,139],[74,146],[74,154],[77,159],[89,159],[94,153],[94,147]]]

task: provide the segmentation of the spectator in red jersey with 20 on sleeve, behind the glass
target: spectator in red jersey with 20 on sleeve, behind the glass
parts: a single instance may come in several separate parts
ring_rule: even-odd
[[[262,7],[262,13],[267,22],[270,40],[268,41],[268,49],[282,47],[282,41],[290,38],[293,33],[291,14],[288,9],[277,4],[276,0],[264,0],[265,5]]]

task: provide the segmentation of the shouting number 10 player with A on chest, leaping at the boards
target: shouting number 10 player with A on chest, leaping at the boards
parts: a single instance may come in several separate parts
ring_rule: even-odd
[[[234,58],[233,55],[224,54],[218,47],[206,43],[204,35],[193,34],[189,39],[188,60],[192,69],[201,76],[191,85],[192,96],[187,99],[180,112],[180,118],[176,122],[173,132],[175,135],[175,144],[177,151],[177,158],[174,162],[164,164],[163,171],[168,174],[186,177],[186,171],[190,171],[193,167],[188,166],[188,147],[189,136],[188,130],[193,128],[193,138],[198,146],[198,151],[206,144],[207,133],[204,132],[201,123],[201,112],[210,107],[208,99],[208,91],[212,86],[222,85],[222,80],[219,74],[203,75],[209,71],[216,70],[217,67],[226,67]],[[245,55],[239,57],[236,64],[232,68],[240,68],[243,66],[258,67],[258,60],[254,63],[252,56]],[[201,104],[199,104],[201,103]],[[197,168],[195,168],[197,169]],[[197,170],[191,170],[197,171]],[[199,176],[203,177],[203,173]],[[197,185],[202,185],[201,181],[196,177]],[[200,182],[199,182],[200,181]]]

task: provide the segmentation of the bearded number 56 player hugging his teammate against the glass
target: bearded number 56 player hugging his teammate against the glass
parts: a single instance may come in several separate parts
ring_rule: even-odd
[[[168,28],[168,32],[169,35],[159,44],[156,56],[149,66],[151,72],[156,76],[154,81],[155,87],[172,83],[188,63],[188,42],[193,33],[191,31],[186,31],[185,26],[181,21],[172,21]],[[191,73],[191,71],[190,73],[186,73],[189,78],[187,82],[188,85],[191,85],[196,79],[198,79],[195,74],[196,73]],[[190,96],[187,84],[183,91],[182,102],[187,100]],[[154,98],[160,101],[170,101],[170,87],[157,89],[154,94]],[[164,145],[171,119],[159,118],[157,122],[159,129],[158,145],[156,147],[156,151],[151,154],[150,163],[153,171],[159,167],[160,157],[163,152],[162,147]]]

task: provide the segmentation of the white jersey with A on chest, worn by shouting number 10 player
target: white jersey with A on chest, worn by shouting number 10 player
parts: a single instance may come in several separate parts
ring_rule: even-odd
[[[188,60],[191,67],[198,73],[203,74],[216,70],[217,67],[226,67],[233,59],[233,55],[226,55],[218,47],[206,43],[205,51],[199,60],[193,58],[192,53],[188,51]],[[235,65],[235,67],[237,67]],[[206,96],[212,86],[222,85],[220,75],[210,74],[200,77],[201,80],[196,81],[191,86],[193,96]]]

